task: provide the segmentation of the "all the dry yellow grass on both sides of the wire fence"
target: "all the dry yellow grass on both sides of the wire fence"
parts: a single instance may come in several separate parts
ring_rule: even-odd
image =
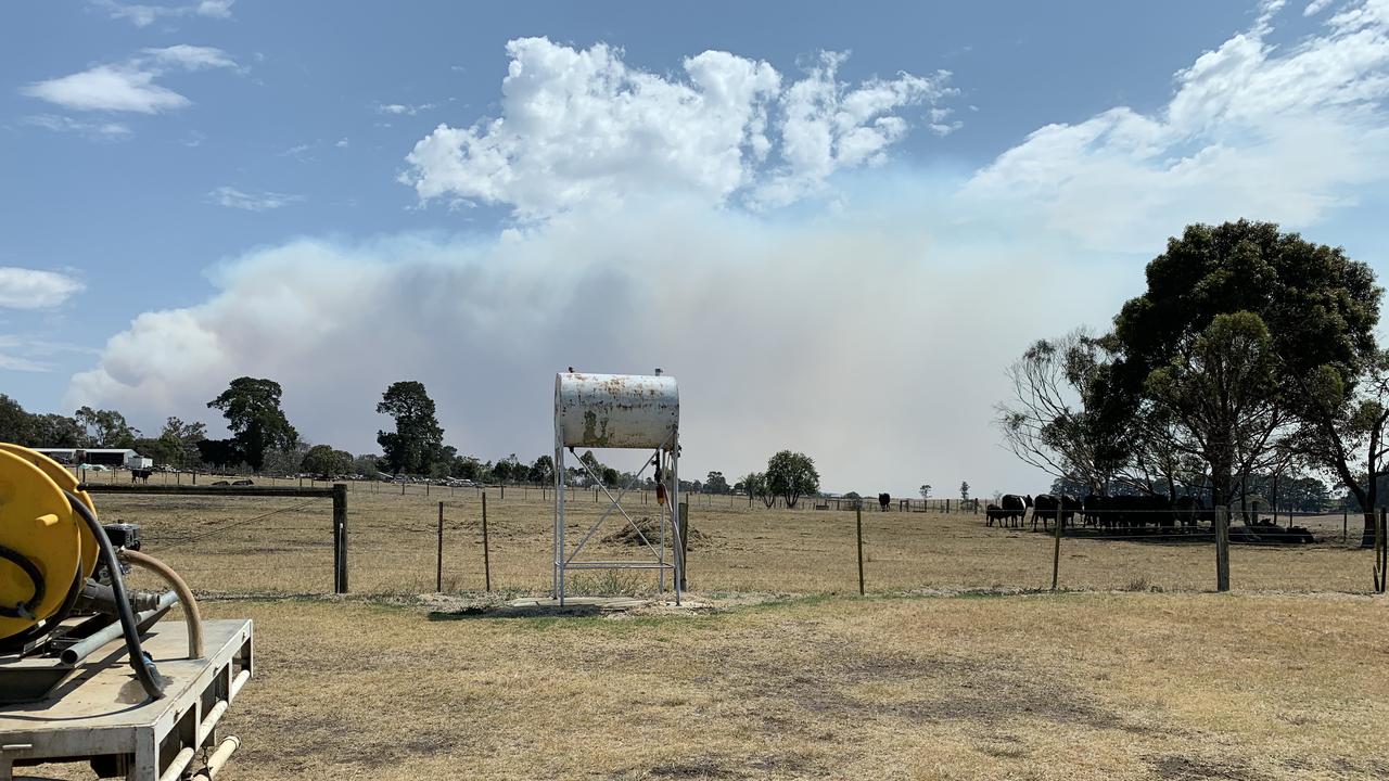
[[[207,614],[257,621],[224,781],[1389,777],[1389,603],[1356,593],[1371,560],[1339,516],[1313,546],[1236,546],[1217,595],[1208,543],[1065,539],[1049,593],[1050,536],[865,513],[860,598],[853,513],[697,499],[694,607],[518,616],[550,506],[489,495],[485,596],[481,502],[442,493],[353,486],[349,598],[322,596],[326,500],[96,498]],[[421,596],[440,499],[456,593]],[[575,529],[594,507],[576,495]]]

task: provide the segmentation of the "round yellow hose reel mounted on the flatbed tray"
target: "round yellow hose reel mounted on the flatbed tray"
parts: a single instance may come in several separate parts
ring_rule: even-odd
[[[0,443],[0,643],[61,618],[96,570],[96,538],[64,491],[94,511],[63,464]]]

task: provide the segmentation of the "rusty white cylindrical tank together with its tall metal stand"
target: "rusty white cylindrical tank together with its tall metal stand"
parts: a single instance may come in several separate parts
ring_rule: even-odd
[[[669,571],[675,592],[675,603],[681,602],[681,579],[685,571],[683,538],[679,517],[679,422],[681,399],[674,377],[629,374],[588,374],[560,372],[554,378],[554,578],[553,596],[563,606],[565,599],[565,575],[569,570],[657,570],[658,588],[665,591],[665,574]],[[564,525],[565,466],[564,452],[574,447],[585,449],[651,449],[653,456],[632,482],[614,496],[610,486],[603,485],[600,475],[593,474],[581,459],[575,461],[589,474],[589,478],[608,498],[608,506],[569,550]],[[657,467],[663,489],[668,498],[657,503],[660,539],[649,541],[632,516],[622,507],[622,498],[646,475],[646,470]],[[600,527],[618,513],[636,529],[638,536],[650,553],[650,560],[607,561],[579,559],[585,546]],[[669,536],[667,538],[667,529]],[[669,549],[669,557],[667,557]]]

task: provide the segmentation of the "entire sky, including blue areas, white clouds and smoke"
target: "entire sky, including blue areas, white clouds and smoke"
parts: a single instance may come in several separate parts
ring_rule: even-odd
[[[1036,482],[989,427],[1003,365],[1103,327],[1185,222],[1381,268],[1386,26],[1378,0],[11,3],[0,389],[157,429],[264,374],[365,452],[418,375],[496,457],[546,449],[556,368],[660,361],[708,386],[696,468],[800,445],[831,488]],[[843,454],[865,432],[899,442]]]

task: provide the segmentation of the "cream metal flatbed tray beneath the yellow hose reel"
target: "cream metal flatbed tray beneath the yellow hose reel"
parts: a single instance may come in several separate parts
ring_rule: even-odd
[[[188,778],[197,752],[211,749],[194,778],[215,778],[239,741],[218,742],[228,705],[253,670],[251,621],[204,621],[206,656],[188,659],[182,621],[154,625],[144,650],[154,657],[165,688],[150,700],[117,638],[89,656],[47,698],[0,706],[0,781],[14,768],[49,762],[90,762],[101,777],[128,781]]]

